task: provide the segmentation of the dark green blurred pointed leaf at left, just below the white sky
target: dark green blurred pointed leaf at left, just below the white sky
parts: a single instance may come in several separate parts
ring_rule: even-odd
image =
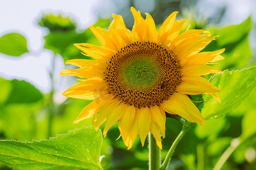
[[[39,101],[43,98],[43,94],[24,80],[11,80],[11,84],[13,86],[13,90],[11,90],[9,98],[6,103],[31,103],[35,101]]]

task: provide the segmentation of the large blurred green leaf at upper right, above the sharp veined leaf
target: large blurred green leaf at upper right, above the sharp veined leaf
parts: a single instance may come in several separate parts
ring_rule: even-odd
[[[221,29],[210,28],[213,36],[219,35],[216,40],[204,49],[204,51],[213,51],[225,48],[222,54],[225,59],[219,61],[214,67],[220,70],[225,69],[243,69],[250,65],[251,50],[249,42],[249,33],[251,30],[251,18],[247,18],[243,23],[230,25]]]

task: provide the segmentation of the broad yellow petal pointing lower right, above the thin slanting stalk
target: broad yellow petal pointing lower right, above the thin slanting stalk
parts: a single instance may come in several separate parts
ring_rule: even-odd
[[[186,95],[176,92],[168,100],[163,101],[161,107],[167,113],[178,114],[189,122],[196,122],[199,125],[203,125],[202,122],[206,124],[200,111]]]

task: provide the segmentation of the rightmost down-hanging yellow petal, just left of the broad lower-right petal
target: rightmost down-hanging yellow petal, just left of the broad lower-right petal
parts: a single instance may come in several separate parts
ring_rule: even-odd
[[[154,121],[156,126],[159,127],[160,132],[164,138],[166,131],[166,113],[158,105],[150,107],[150,113],[152,121]]]

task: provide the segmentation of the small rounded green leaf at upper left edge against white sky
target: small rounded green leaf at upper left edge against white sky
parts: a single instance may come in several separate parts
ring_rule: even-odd
[[[26,52],[27,40],[19,33],[8,33],[0,38],[0,53],[18,57]]]

